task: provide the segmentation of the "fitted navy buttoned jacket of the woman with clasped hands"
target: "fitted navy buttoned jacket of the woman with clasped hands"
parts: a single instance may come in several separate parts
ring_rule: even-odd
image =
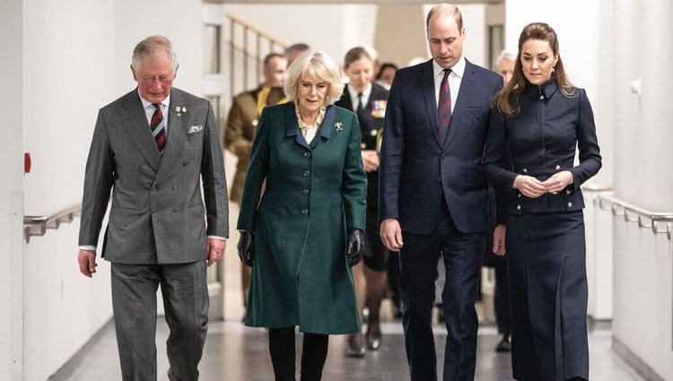
[[[565,95],[554,78],[539,86],[527,83],[526,89],[515,95],[519,115],[506,117],[494,110],[486,138],[486,172],[504,195],[498,209],[509,214],[580,210],[584,207],[580,186],[601,167],[586,91],[575,88]],[[511,162],[506,159],[507,150]],[[579,164],[575,165],[578,151]],[[544,181],[562,170],[572,173],[573,182],[556,195],[529,198],[512,188],[519,175]],[[498,223],[506,219],[503,212],[498,213]]]

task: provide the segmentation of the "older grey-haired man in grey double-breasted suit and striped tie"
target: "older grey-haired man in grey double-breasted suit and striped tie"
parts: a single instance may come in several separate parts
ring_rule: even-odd
[[[156,291],[170,327],[170,380],[197,380],[207,329],[206,264],[229,234],[227,187],[213,109],[172,88],[178,60],[161,36],[135,47],[137,88],[101,108],[86,164],[80,271],[111,262],[112,307],[122,377],[156,380]],[[203,195],[202,195],[203,185]],[[204,208],[205,202],[205,208]]]

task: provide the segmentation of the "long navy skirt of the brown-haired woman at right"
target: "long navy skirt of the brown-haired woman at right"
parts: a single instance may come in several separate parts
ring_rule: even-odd
[[[589,379],[582,211],[510,215],[506,231],[514,378]]]

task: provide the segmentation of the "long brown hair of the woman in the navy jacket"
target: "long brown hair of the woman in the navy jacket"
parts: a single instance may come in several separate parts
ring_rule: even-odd
[[[526,76],[523,74],[523,68],[521,67],[521,49],[523,48],[523,44],[529,39],[539,39],[549,43],[554,56],[558,57],[552,78],[554,78],[556,85],[564,96],[572,97],[575,92],[575,87],[568,79],[567,74],[565,74],[564,62],[558,52],[558,37],[556,36],[556,32],[544,22],[530,23],[521,30],[521,35],[519,36],[519,53],[517,53],[517,59],[514,61],[514,73],[511,76],[511,81],[505,85],[495,99],[495,107],[508,117],[519,115],[518,94],[526,89]]]

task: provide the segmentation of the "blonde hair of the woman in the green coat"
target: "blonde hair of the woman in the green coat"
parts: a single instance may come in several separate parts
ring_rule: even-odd
[[[287,69],[287,78],[285,79],[285,95],[287,100],[297,99],[297,84],[305,74],[316,76],[320,81],[328,82],[328,96],[325,100],[325,106],[334,104],[344,92],[344,82],[341,81],[339,67],[337,63],[325,52],[307,51],[298,56]]]

